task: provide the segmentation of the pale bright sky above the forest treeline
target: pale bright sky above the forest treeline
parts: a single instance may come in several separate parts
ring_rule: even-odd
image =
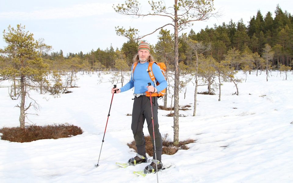
[[[144,17],[133,19],[116,13],[113,4],[124,3],[124,0],[1,0],[0,1],[0,30],[7,27],[25,25],[26,31],[34,34],[36,40],[43,38],[47,45],[51,45],[54,52],[67,53],[90,52],[92,49],[107,49],[112,45],[120,49],[127,38],[119,37],[115,27],[137,28],[140,35],[149,34],[161,27],[168,19],[158,17]],[[139,1],[142,9],[149,9],[147,0]],[[167,1],[166,1],[167,2]],[[293,13],[293,2],[289,0],[215,0],[214,7],[222,13],[220,18],[210,18],[207,21],[195,22],[181,33],[189,33],[191,28],[197,33],[206,26],[222,25],[232,19],[237,23],[241,18],[247,24],[252,16],[260,10],[265,16],[268,11],[273,14],[280,5],[283,11]],[[163,23],[162,23],[163,22]],[[165,27],[171,30],[172,27]],[[181,33],[179,33],[181,35]],[[1,34],[2,36],[3,34]],[[157,43],[158,32],[144,38],[151,45]],[[7,44],[0,39],[0,48]]]

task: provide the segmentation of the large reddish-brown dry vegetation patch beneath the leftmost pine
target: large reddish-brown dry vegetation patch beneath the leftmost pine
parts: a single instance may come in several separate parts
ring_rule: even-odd
[[[57,139],[82,134],[80,127],[67,124],[36,126],[26,128],[12,127],[0,129],[1,139],[10,142],[32,142],[41,139]]]

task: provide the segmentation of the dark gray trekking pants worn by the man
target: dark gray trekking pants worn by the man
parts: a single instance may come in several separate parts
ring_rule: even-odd
[[[157,160],[161,161],[162,156],[162,136],[159,131],[158,124],[158,102],[157,97],[152,97],[152,109],[154,119],[154,135],[156,143],[156,154]],[[152,111],[150,106],[150,97],[140,95],[134,98],[133,109],[132,109],[132,123],[131,129],[133,137],[136,142],[137,153],[141,156],[146,156],[146,142],[143,134],[143,124],[147,120],[147,129],[150,133],[153,144],[153,159],[155,158],[154,153],[154,136],[153,136],[153,123],[152,123]]]

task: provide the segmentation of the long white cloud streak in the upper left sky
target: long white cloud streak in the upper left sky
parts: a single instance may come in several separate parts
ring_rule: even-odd
[[[0,20],[50,20],[88,17],[113,12],[112,5],[91,3],[71,5],[66,8],[40,9],[31,12],[4,12],[0,13]]]

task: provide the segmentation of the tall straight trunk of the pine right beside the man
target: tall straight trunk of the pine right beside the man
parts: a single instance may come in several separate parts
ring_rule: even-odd
[[[175,81],[174,81],[174,145],[179,145],[179,66],[178,66],[178,15],[177,15],[177,0],[174,5],[174,62],[175,62]]]

